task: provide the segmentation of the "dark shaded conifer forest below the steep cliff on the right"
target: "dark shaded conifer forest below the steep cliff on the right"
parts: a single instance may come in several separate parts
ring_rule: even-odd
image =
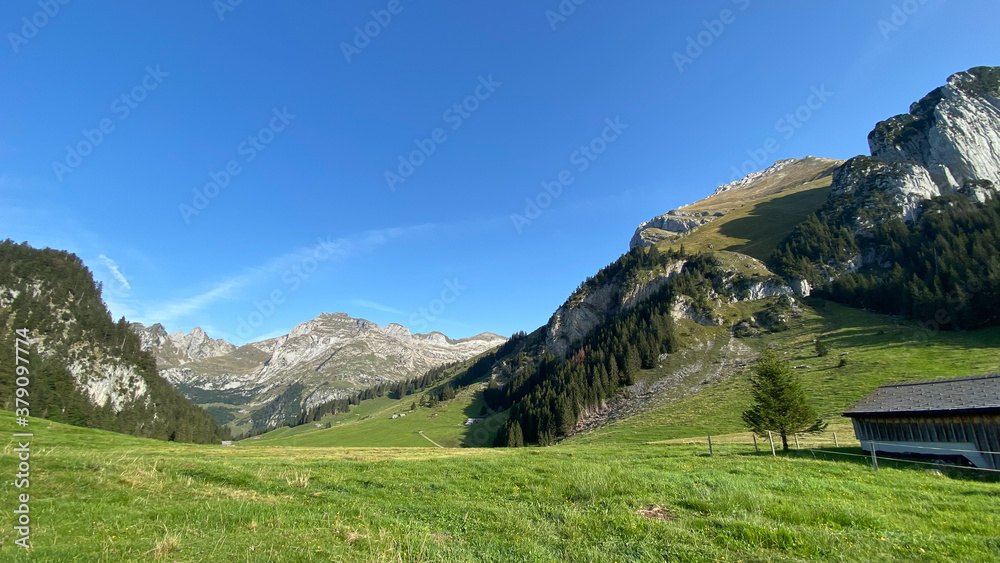
[[[936,328],[1000,324],[997,198],[934,198],[912,224],[892,218],[861,234],[851,221],[831,200],[785,240],[772,267],[809,280],[817,295]]]

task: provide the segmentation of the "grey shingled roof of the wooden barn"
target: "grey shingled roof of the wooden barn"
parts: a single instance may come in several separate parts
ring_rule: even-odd
[[[844,416],[1000,410],[1000,374],[883,385]]]

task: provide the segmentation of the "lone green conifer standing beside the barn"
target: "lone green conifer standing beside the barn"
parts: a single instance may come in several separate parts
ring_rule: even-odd
[[[789,434],[820,432],[826,428],[788,364],[773,351],[765,351],[757,360],[750,386],[754,404],[744,411],[743,422],[757,434],[778,432],[785,450]]]

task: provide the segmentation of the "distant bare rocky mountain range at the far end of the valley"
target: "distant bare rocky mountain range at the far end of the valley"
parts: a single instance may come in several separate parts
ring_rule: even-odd
[[[280,424],[301,408],[416,377],[506,341],[491,333],[462,340],[412,334],[399,324],[381,327],[344,313],[324,313],[285,336],[238,349],[200,329],[166,339],[162,327],[154,329],[140,334],[148,335],[158,358],[172,362],[161,365],[161,375],[195,403],[213,405],[221,421],[240,431]],[[176,361],[177,350],[191,359]]]

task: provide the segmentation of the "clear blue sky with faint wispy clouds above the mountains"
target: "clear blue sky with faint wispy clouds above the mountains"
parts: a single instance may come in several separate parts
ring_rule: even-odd
[[[1000,64],[993,1],[678,4],[4,2],[0,236],[170,331],[508,335],[746,161]]]

